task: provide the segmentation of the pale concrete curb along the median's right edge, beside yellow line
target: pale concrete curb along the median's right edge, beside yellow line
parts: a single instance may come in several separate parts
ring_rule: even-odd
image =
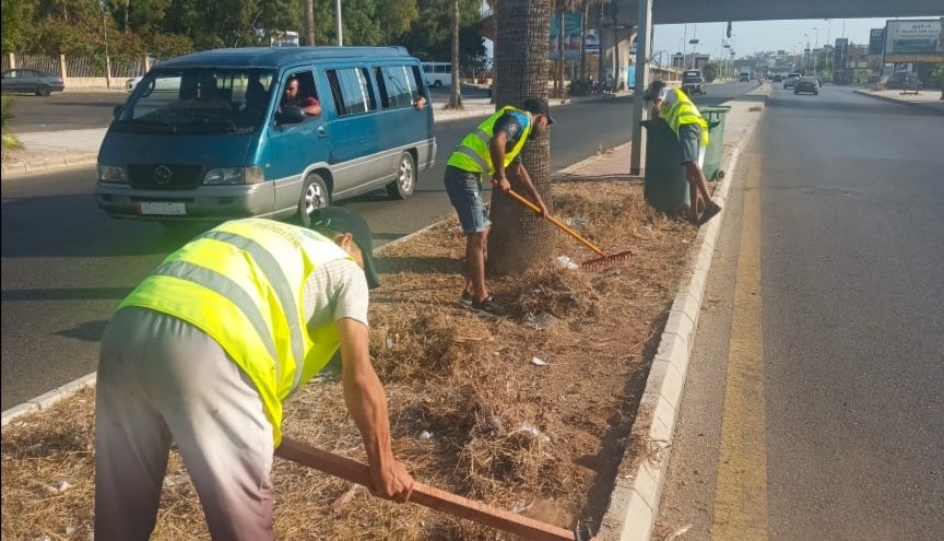
[[[760,86],[763,90],[764,86]],[[768,93],[769,96],[769,93]],[[766,99],[765,99],[766,104]],[[766,105],[764,106],[766,111]],[[723,169],[728,172],[712,199],[722,205],[721,213],[698,232],[688,262],[686,278],[682,280],[669,310],[665,329],[659,340],[656,357],[649,368],[646,390],[629,435],[629,444],[621,472],[610,497],[610,507],[603,516],[598,539],[606,541],[650,541],[659,514],[662,485],[669,466],[677,411],[688,373],[698,316],[715,244],[724,220],[728,192],[734,181],[734,170],[741,149],[750,141],[762,115],[751,117],[746,130],[733,145]]]

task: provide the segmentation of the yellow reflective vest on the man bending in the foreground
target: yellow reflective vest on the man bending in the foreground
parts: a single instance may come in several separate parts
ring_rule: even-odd
[[[340,346],[332,324],[309,330],[304,285],[318,266],[352,259],[333,242],[273,220],[226,222],[167,258],[119,306],[169,314],[212,337],[249,376],[282,440],[282,401]]]

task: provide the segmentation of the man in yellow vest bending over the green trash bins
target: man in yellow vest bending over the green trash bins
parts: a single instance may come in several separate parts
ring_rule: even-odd
[[[682,165],[685,166],[685,179],[688,181],[691,204],[688,220],[701,225],[719,212],[721,207],[711,201],[708,181],[701,165],[705,161],[705,148],[708,146],[708,122],[698,113],[698,107],[681,89],[670,89],[664,81],[652,81],[642,94],[646,102],[652,102],[652,118],[664,120],[675,136],[682,150]],[[705,200],[705,211],[698,215],[698,196]]]

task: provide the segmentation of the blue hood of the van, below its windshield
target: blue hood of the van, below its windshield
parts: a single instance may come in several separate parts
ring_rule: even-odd
[[[108,130],[98,149],[103,165],[179,164],[214,167],[257,165],[249,149],[257,134],[174,136],[114,132]]]

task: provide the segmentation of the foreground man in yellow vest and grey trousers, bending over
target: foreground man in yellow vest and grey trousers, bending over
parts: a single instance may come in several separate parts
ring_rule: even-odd
[[[149,539],[172,440],[214,540],[274,539],[282,403],[339,348],[371,490],[410,497],[370,364],[371,246],[367,223],[342,208],[316,210],[310,228],[233,220],[167,256],[121,302],[98,361],[95,539]]]

